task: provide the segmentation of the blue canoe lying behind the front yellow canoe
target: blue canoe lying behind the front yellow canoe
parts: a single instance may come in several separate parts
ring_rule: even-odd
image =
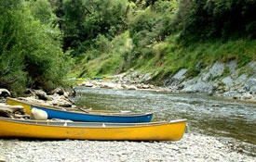
[[[150,122],[153,113],[130,113],[130,112],[82,112],[82,111],[65,111],[62,109],[53,108],[50,106],[36,106],[32,108],[41,109],[47,112],[47,118],[70,119],[74,121],[85,122],[119,122],[119,123],[137,123]]]

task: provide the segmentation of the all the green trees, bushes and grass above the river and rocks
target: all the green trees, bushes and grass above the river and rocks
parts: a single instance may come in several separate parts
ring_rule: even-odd
[[[255,57],[254,0],[0,0],[0,86],[50,90],[128,69],[155,83]],[[70,70],[72,69],[72,70]]]

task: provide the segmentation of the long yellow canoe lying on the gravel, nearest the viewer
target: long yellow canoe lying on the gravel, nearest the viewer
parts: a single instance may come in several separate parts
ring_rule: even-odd
[[[104,141],[178,141],[186,119],[149,123],[95,123],[0,118],[0,138]]]

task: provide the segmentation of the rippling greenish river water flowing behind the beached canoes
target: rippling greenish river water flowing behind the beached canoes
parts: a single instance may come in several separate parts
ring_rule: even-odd
[[[187,118],[188,130],[221,137],[236,151],[256,156],[256,104],[208,95],[76,87],[76,106],[154,112],[153,121]]]

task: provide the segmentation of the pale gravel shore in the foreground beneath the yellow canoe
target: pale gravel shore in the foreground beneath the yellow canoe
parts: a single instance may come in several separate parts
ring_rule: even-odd
[[[2,139],[0,148],[7,162],[255,161],[252,156],[231,150],[218,138],[192,132],[185,133],[178,142]]]

